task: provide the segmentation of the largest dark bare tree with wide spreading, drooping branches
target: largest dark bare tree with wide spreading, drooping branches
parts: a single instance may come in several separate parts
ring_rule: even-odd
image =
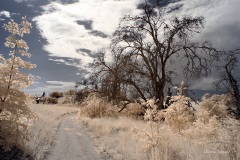
[[[217,55],[208,42],[190,42],[191,36],[203,28],[203,17],[174,17],[170,21],[163,17],[159,5],[145,2],[141,15],[123,17],[111,46],[113,53],[118,50],[119,57],[127,57],[121,59],[124,61],[121,74],[110,72],[112,77],[132,86],[144,100],[147,95],[158,99],[159,109],[164,108],[164,89],[174,73],[168,66],[175,65],[176,58],[186,62],[186,75],[199,77],[208,75],[211,65],[208,58]],[[101,61],[101,66],[106,67],[104,59]]]

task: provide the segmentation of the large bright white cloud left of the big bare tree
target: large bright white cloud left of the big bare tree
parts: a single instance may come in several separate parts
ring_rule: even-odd
[[[139,0],[82,0],[74,4],[52,2],[43,7],[44,13],[35,17],[34,21],[48,42],[44,49],[50,56],[79,59],[81,66],[88,66],[93,59],[88,54],[77,52],[77,49],[96,51],[107,47],[110,39],[96,34],[110,36],[123,14],[139,12],[136,9],[138,3]],[[91,28],[78,24],[79,21],[91,22]],[[79,64],[77,67],[80,67]]]

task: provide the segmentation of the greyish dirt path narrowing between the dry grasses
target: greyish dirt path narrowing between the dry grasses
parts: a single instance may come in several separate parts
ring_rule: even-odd
[[[101,160],[93,143],[82,129],[77,115],[65,117],[54,139],[47,160]]]

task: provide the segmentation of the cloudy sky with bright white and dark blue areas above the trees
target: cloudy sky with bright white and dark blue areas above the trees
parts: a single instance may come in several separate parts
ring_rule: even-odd
[[[89,63],[96,52],[107,48],[123,15],[140,14],[142,0],[1,0],[0,26],[10,19],[16,22],[26,16],[32,23],[31,34],[24,39],[37,65],[29,73],[41,77],[26,93],[41,95],[43,91],[74,89],[75,82],[88,76]],[[149,0],[156,3],[155,0]],[[164,0],[167,14],[203,16],[205,28],[193,37],[209,40],[219,50],[240,48],[239,0]],[[0,54],[7,33],[0,27]],[[193,89],[211,89],[214,77],[193,83]]]

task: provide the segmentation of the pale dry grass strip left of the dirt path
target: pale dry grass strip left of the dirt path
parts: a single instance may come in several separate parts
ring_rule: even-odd
[[[31,141],[28,152],[34,159],[44,159],[53,143],[59,123],[64,115],[77,113],[78,108],[59,105],[31,104],[29,107],[36,114],[37,118],[30,127]]]

